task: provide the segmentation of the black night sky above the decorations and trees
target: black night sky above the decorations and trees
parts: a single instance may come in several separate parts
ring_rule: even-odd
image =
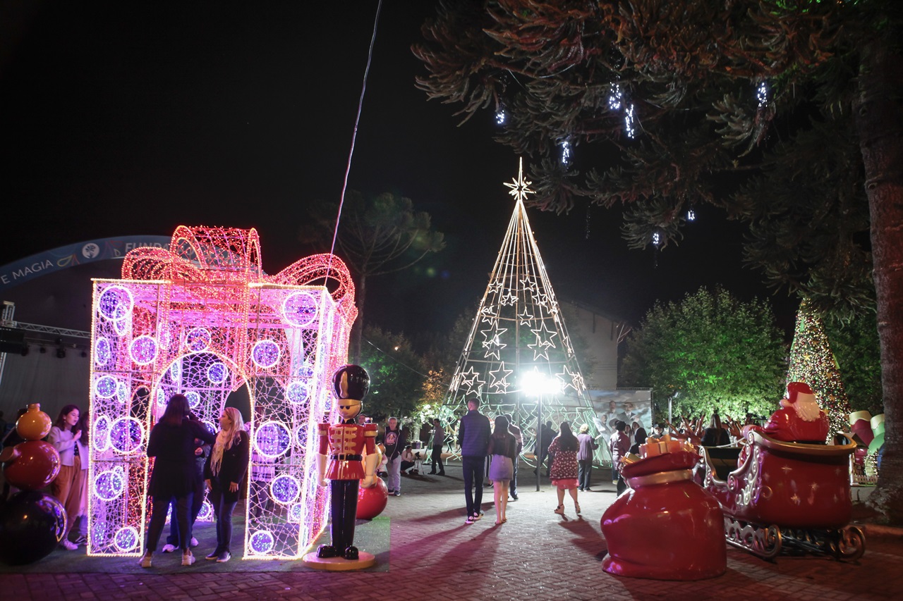
[[[313,199],[340,197],[377,2],[163,4],[0,9],[0,265],[181,224],[256,227],[268,273],[312,252],[297,229]],[[349,189],[413,199],[446,236],[417,268],[368,281],[368,321],[411,334],[479,301],[513,209],[502,182],[517,176],[488,112],[458,127],[460,106],[414,88],[425,69],[410,46],[432,13],[383,6],[349,175]],[[697,212],[657,267],[628,251],[618,210],[530,219],[559,300],[636,324],[703,283],[769,296],[741,266],[743,227]],[[792,328],[796,303],[773,302]]]

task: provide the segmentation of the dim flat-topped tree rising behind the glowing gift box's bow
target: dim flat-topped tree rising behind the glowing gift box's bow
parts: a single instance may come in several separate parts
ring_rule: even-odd
[[[301,240],[320,252],[328,251],[338,211],[334,202],[313,203],[300,229]],[[349,190],[342,207],[336,246],[337,254],[356,276],[358,321],[351,334],[351,347],[354,360],[359,362],[360,336],[366,324],[368,278],[411,267],[427,254],[441,251],[445,239],[441,232],[433,231],[429,213],[414,210],[411,199],[391,192],[365,198],[360,192]]]

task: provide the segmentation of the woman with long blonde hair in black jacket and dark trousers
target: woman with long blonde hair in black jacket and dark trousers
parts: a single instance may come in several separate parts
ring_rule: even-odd
[[[219,434],[204,466],[210,502],[217,518],[217,548],[207,556],[224,563],[232,558],[232,513],[238,502],[238,485],[245,478],[250,458],[250,439],[241,412],[227,407],[219,416]]]

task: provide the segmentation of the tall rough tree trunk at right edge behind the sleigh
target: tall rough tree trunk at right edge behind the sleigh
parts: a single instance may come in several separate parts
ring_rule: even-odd
[[[886,426],[869,504],[889,522],[903,524],[903,60],[890,47],[876,37],[862,49],[853,111],[869,197]]]

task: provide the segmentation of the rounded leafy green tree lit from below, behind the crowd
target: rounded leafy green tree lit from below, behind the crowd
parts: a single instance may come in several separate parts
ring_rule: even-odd
[[[662,413],[674,397],[675,415],[769,415],[787,368],[782,337],[768,303],[702,288],[649,310],[628,337],[619,382],[651,386]]]

